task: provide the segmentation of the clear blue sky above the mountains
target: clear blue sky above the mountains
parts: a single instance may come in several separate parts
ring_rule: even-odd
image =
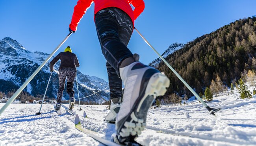
[[[135,27],[162,54],[172,43],[187,43],[201,35],[255,15],[255,0],[144,0]],[[11,37],[30,51],[50,54],[69,33],[76,0],[0,0],[0,39]],[[55,56],[70,46],[84,74],[108,81],[93,21],[94,4]],[[134,31],[128,48],[148,64],[158,56]]]

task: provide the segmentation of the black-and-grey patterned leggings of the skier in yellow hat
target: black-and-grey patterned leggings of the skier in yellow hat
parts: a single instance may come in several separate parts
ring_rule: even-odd
[[[57,103],[61,103],[61,98],[63,95],[63,90],[65,86],[65,81],[67,78],[67,93],[69,98],[74,97],[74,79],[76,77],[76,69],[74,68],[61,68],[59,69],[59,90],[57,94]]]

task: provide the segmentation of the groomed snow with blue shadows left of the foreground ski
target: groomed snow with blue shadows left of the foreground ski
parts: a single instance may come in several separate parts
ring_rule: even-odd
[[[0,104],[2,107],[4,104]],[[79,133],[73,122],[58,116],[52,105],[11,104],[0,116],[0,145],[98,145],[99,142]]]

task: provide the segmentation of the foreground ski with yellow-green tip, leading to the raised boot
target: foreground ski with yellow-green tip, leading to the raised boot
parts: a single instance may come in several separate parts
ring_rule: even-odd
[[[78,131],[81,131],[83,133],[85,133],[86,135],[88,135],[89,137],[92,137],[93,139],[97,140],[98,142],[106,145],[106,146],[123,146],[121,144],[117,144],[115,142],[112,142],[110,140],[106,140],[106,139],[103,139],[101,137],[98,137],[98,133],[95,132],[95,131],[91,131],[89,129],[85,129],[83,128],[83,126],[81,125],[80,123],[80,119],[79,119],[79,116],[76,115],[76,118],[75,118],[75,127]]]

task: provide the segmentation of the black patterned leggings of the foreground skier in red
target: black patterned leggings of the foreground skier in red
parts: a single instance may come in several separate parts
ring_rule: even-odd
[[[132,20],[121,9],[109,7],[96,13],[95,25],[102,53],[107,59],[110,98],[121,98],[122,80],[117,74],[122,61],[132,57],[126,47],[134,27]]]

